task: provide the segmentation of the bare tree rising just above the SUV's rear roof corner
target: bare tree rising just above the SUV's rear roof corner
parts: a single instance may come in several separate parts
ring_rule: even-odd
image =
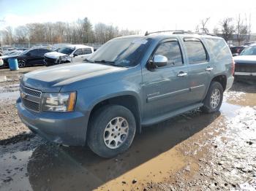
[[[233,33],[235,32],[235,27],[233,26],[232,21],[233,18],[226,17],[220,22],[222,26],[222,38],[225,39],[226,42],[231,39]]]

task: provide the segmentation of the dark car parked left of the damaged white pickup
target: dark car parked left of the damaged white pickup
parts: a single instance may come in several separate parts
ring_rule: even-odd
[[[25,66],[44,65],[45,53],[52,52],[52,51],[53,50],[48,50],[45,48],[29,49],[22,52],[22,54],[14,55],[11,58],[17,58],[19,68],[23,68]],[[9,66],[9,63],[8,63],[9,58],[3,59],[4,66]]]

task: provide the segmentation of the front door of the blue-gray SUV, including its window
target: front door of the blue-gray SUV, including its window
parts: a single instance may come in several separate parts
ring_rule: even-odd
[[[188,67],[178,39],[161,42],[151,58],[154,55],[167,57],[167,66],[143,69],[144,121],[186,106],[189,93]]]

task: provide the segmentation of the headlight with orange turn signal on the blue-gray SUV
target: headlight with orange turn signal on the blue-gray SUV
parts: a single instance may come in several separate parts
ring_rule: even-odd
[[[45,112],[73,112],[76,93],[45,93],[42,110]]]

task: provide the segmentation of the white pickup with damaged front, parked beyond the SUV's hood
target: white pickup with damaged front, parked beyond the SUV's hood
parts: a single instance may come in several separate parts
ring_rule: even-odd
[[[83,44],[71,44],[58,50],[45,54],[45,66],[61,63],[82,62],[94,52],[93,47]]]

